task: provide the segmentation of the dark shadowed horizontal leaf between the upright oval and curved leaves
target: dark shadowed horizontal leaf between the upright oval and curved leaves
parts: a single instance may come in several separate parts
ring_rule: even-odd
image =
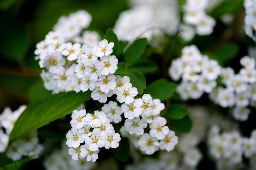
[[[157,70],[157,65],[153,61],[141,61],[132,65],[131,68],[138,69],[142,74],[148,74]]]

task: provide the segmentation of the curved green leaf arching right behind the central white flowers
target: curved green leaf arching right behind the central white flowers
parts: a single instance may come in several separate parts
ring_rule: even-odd
[[[146,88],[146,78],[139,70],[130,68],[127,69],[125,73],[121,74],[121,76],[130,77],[130,83],[132,83],[133,87],[138,89],[138,94],[143,93]]]

